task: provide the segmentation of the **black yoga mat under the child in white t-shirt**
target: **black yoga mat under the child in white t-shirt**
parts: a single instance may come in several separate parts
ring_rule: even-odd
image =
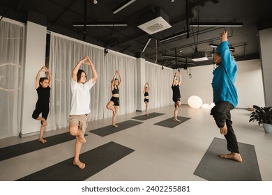
[[[84,169],[73,165],[72,157],[20,178],[19,181],[83,181],[134,151],[111,141],[80,155],[80,160],[86,165]]]

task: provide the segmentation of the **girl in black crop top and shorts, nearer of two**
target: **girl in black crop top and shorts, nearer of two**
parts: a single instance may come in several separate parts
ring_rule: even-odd
[[[119,76],[119,79],[116,78],[116,76]],[[107,109],[112,111],[112,126],[113,127],[118,127],[115,125],[115,120],[116,120],[116,114],[119,109],[119,86],[122,82],[121,75],[119,70],[116,70],[115,75],[112,79],[112,98],[109,100],[107,103]],[[114,108],[113,108],[114,106]]]

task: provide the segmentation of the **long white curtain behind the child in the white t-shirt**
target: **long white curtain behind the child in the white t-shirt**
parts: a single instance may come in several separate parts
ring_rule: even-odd
[[[110,51],[104,54],[104,48],[86,42],[68,38],[57,33],[51,33],[50,63],[53,83],[50,96],[50,114],[48,129],[66,127],[70,113],[70,79],[75,65],[84,56],[89,56],[98,72],[95,86],[91,88],[90,120],[112,117],[112,111],[106,109],[106,104],[112,97],[110,85],[116,70],[120,71],[123,83],[120,86],[120,107],[118,114],[128,114],[136,111],[136,59],[130,56]],[[92,77],[91,68],[82,65],[87,79]],[[117,119],[118,120],[118,119]]]

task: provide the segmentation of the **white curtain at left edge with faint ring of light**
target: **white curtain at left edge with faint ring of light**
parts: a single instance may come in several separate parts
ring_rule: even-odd
[[[0,21],[0,139],[20,132],[24,24]]]

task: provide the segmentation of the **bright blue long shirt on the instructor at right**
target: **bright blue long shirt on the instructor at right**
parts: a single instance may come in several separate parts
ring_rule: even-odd
[[[237,72],[236,62],[229,52],[229,43],[221,42],[216,48],[220,53],[221,64],[213,70],[213,102],[230,102],[234,107],[238,104],[238,96],[234,81]]]

